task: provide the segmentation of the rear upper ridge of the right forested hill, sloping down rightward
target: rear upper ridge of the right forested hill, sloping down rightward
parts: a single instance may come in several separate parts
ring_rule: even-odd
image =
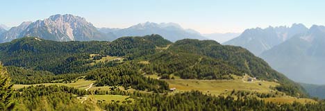
[[[240,71],[240,75],[249,74],[262,80],[288,80],[264,60],[257,58],[248,50],[239,46],[221,45],[211,40],[179,40],[169,47],[175,53],[195,53],[226,62]]]

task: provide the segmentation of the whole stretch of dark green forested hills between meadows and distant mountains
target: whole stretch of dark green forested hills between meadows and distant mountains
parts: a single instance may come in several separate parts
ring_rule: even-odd
[[[125,62],[94,63],[96,60],[90,59],[92,54],[97,54],[99,58],[120,57]],[[281,92],[292,96],[305,95],[300,85],[246,49],[224,46],[211,40],[178,40],[172,43],[160,35],[147,35],[121,37],[113,42],[53,42],[24,37],[0,44],[0,60],[4,65],[53,74],[95,74],[92,72],[96,70],[119,70],[119,65],[132,65],[130,69],[137,70],[135,72],[139,74],[174,74],[185,79],[232,79],[231,74],[248,74],[262,80],[278,81],[281,85],[275,88]],[[110,67],[113,68],[103,69]]]

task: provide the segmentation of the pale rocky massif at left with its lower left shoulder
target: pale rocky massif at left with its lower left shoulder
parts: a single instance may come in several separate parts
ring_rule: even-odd
[[[36,22],[24,22],[22,25],[11,28],[2,35],[3,42],[10,42],[19,37],[35,36],[45,40],[89,41],[113,40],[115,36],[97,31],[85,18],[74,15],[53,15],[48,19]]]

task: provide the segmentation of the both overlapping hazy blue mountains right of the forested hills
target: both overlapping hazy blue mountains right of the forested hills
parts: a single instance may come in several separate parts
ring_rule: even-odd
[[[324,26],[251,28],[224,44],[248,49],[297,82],[325,84]]]

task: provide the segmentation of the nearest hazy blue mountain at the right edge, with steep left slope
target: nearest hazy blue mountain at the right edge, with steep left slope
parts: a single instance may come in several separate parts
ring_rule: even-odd
[[[325,84],[325,27],[306,33],[263,52],[260,57],[277,71],[301,83]]]

